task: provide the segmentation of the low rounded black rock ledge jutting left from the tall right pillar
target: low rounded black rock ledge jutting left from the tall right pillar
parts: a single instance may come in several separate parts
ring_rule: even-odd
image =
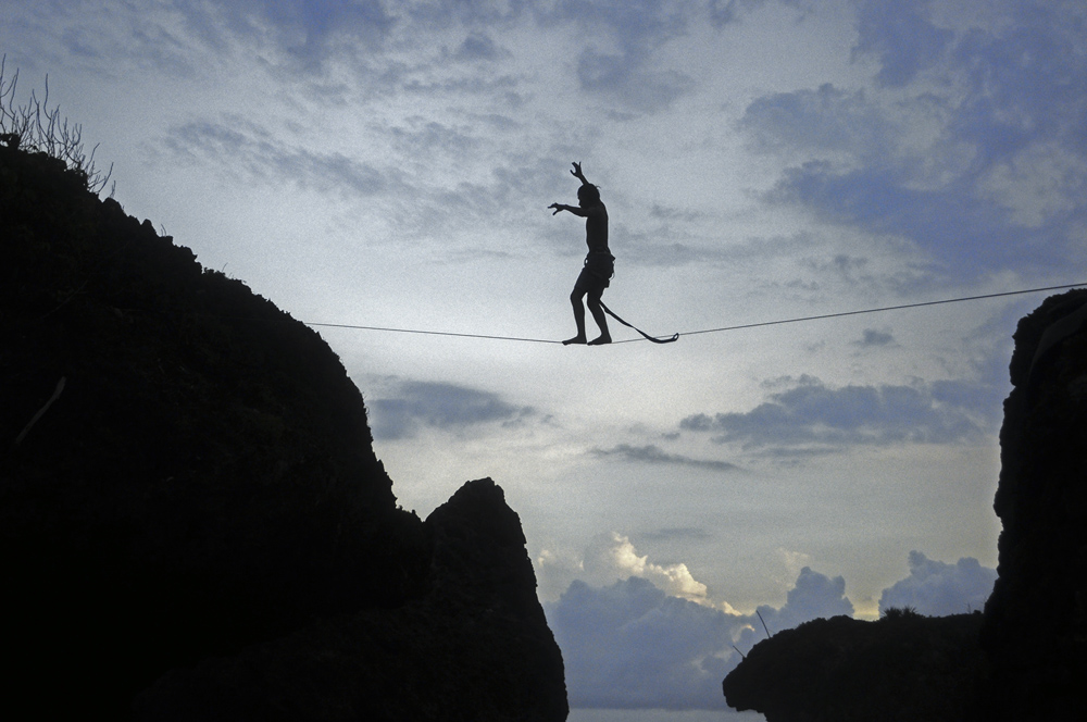
[[[819,619],[757,644],[722,685],[767,722],[960,722],[982,663],[982,614]]]

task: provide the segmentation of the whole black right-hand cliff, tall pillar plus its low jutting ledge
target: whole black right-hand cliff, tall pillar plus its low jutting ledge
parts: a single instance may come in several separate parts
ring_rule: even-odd
[[[900,619],[907,635],[817,620],[755,645],[729,705],[769,722],[1087,719],[1087,290],[1020,322],[1011,382],[984,618]]]

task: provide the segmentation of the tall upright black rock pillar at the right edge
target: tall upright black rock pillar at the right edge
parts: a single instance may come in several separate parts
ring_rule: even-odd
[[[1087,719],[1087,291],[1020,321],[994,508],[978,720]]]

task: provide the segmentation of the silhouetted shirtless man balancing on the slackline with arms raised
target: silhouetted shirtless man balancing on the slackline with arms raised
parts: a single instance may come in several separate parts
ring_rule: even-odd
[[[600,297],[603,296],[604,288],[608,288],[611,277],[615,273],[615,257],[608,250],[608,209],[600,200],[600,190],[585,179],[580,163],[573,165],[574,170],[570,172],[571,175],[582,182],[582,187],[577,189],[577,206],[551,203],[548,207],[554,209],[554,213],[551,215],[555,215],[559,211],[570,211],[574,215],[585,219],[585,242],[589,247],[582,274],[577,276],[574,290],[570,294],[570,302],[574,307],[574,323],[577,324],[577,335],[564,340],[563,345],[586,343],[585,307],[582,306],[582,297],[588,296],[586,302],[589,312],[592,314],[592,320],[600,326],[600,336],[588,341],[588,345],[600,346],[611,344],[608,320],[600,306]]]

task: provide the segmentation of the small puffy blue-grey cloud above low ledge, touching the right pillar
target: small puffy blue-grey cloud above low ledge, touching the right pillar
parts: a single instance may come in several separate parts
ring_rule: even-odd
[[[948,564],[911,551],[910,575],[883,590],[879,612],[912,607],[927,617],[964,614],[985,607],[996,581],[997,570],[971,557]]]

